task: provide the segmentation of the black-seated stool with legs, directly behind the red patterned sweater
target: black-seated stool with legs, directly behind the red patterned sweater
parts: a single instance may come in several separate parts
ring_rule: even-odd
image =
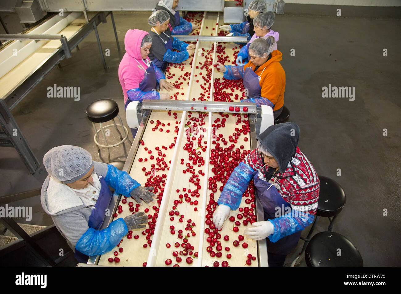
[[[302,260],[302,254],[304,253],[308,242],[310,242],[310,238],[312,237],[313,231],[315,229],[316,222],[320,216],[327,217],[330,220],[330,224],[328,226],[328,231],[333,231],[334,220],[337,215],[341,212],[342,208],[345,206],[346,196],[345,192],[336,181],[326,177],[319,176],[320,180],[320,190],[319,190],[319,201],[318,207],[316,208],[316,217],[313,221],[312,228],[308,233],[306,238],[300,237],[301,240],[304,240],[304,246],[302,246],[302,250],[300,256],[298,256],[292,266],[296,263],[299,263]],[[300,259],[298,262],[297,260]]]

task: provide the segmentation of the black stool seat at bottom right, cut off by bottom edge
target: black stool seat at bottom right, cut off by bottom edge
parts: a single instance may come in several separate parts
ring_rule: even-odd
[[[308,266],[363,266],[362,256],[354,244],[334,232],[313,236],[306,246],[305,262]]]

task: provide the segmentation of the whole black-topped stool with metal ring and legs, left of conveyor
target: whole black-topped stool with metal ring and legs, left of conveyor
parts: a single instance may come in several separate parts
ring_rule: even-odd
[[[95,102],[92,102],[91,104],[88,105],[86,108],[86,116],[88,119],[92,122],[93,129],[95,130],[95,136],[93,137],[93,140],[95,141],[95,144],[97,145],[97,152],[99,153],[100,156],[100,149],[99,147],[104,147],[107,148],[107,158],[110,161],[110,150],[109,148],[118,146],[119,144],[124,143],[125,140],[128,139],[128,130],[124,126],[121,118],[118,115],[118,104],[112,99],[101,99],[97,100]],[[117,117],[120,121],[120,124],[115,124],[114,118]],[[108,122],[109,120],[113,121],[113,124],[108,124],[107,126],[102,126],[103,122]],[[95,122],[100,123],[100,129],[97,130],[95,126]],[[107,144],[106,136],[104,133],[104,129],[108,128],[109,126],[114,126],[115,130],[117,130],[121,141],[117,142],[116,144],[109,145]],[[124,138],[121,135],[121,132],[118,130],[117,126],[120,126],[124,130]],[[99,132],[103,134],[103,138],[105,141],[106,145],[99,144]],[[130,141],[130,139],[128,139]],[[131,142],[131,141],[130,141]]]

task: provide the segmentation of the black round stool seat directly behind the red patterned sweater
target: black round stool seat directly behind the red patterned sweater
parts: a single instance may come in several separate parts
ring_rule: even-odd
[[[319,176],[320,192],[316,215],[323,217],[336,216],[345,206],[345,192],[336,181]]]

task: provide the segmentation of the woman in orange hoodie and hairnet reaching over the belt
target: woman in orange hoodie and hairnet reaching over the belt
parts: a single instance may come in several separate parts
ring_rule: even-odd
[[[269,36],[266,40],[257,38],[249,46],[251,59],[244,66],[231,66],[217,62],[217,70],[223,72],[228,80],[243,79],[245,89],[248,89],[247,99],[241,102],[254,102],[273,108],[274,118],[277,118],[284,106],[284,90],[286,88],[286,73],[280,64],[283,54],[273,50],[275,40]]]

